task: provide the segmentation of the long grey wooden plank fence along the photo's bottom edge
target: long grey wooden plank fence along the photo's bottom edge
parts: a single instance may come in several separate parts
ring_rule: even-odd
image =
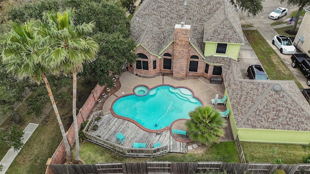
[[[54,174],[193,174],[207,170],[231,174],[271,174],[283,169],[286,174],[310,174],[310,164],[224,163],[224,162],[132,162],[94,165],[49,165]],[[304,173],[301,173],[304,171]]]

